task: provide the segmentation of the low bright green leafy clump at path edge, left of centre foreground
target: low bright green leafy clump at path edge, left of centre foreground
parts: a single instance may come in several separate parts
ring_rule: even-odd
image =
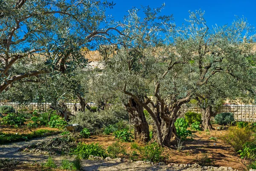
[[[83,159],[88,159],[89,156],[108,157],[105,149],[102,148],[99,143],[84,144],[83,142],[79,142],[77,147],[73,150],[73,154]]]

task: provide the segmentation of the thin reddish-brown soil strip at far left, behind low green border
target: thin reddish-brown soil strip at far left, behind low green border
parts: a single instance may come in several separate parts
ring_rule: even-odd
[[[49,128],[42,126],[40,128],[37,128],[37,130],[44,129],[44,130],[55,130],[58,131],[58,128]],[[29,129],[27,128],[14,128],[13,126],[6,126],[6,125],[0,125],[0,132],[3,133],[32,133]]]

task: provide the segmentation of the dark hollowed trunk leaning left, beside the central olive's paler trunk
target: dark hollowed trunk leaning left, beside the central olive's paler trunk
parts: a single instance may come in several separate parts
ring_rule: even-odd
[[[134,125],[134,139],[137,142],[148,142],[149,128],[143,112],[143,106],[138,104],[134,99],[129,99],[125,107],[130,114],[131,124]]]

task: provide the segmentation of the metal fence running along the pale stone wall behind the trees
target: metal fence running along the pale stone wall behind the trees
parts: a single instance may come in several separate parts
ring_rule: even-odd
[[[67,109],[75,114],[80,110],[79,103],[66,102],[64,103],[67,106]],[[94,103],[88,103],[91,107],[95,106]],[[0,106],[9,105],[15,108],[15,110],[38,110],[39,112],[46,112],[50,109],[51,103],[29,103],[29,104],[20,104],[17,102],[0,102]],[[107,104],[106,108],[110,104]],[[202,113],[201,108],[197,104],[184,104],[180,112],[182,113],[181,117],[184,117],[184,113],[187,111]],[[218,113],[222,112],[231,112],[234,114],[236,121],[247,121],[247,122],[256,122],[256,105],[253,104],[223,104],[218,110]]]

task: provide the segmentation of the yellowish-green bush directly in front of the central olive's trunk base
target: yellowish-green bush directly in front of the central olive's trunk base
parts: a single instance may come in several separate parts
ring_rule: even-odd
[[[147,144],[145,147],[139,148],[139,151],[145,160],[151,162],[160,162],[163,160],[163,148],[157,142]]]

